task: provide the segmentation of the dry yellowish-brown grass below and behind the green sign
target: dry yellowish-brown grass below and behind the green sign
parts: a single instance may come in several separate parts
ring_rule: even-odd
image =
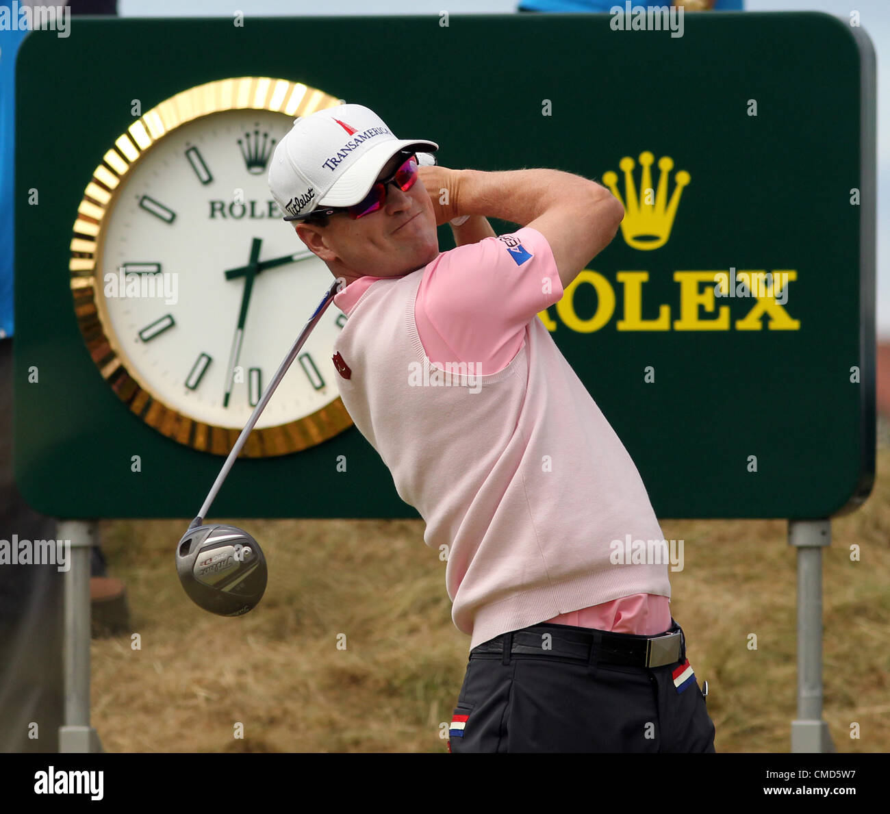
[[[824,718],[838,752],[890,752],[890,451],[824,568]],[[215,519],[223,522],[222,519]],[[189,520],[105,521],[134,633],[93,641],[93,725],[109,752],[445,752],[469,639],[421,520],[230,520],[263,545],[269,587],[245,617],[193,605],[175,575]],[[797,571],[778,521],[669,520],[671,575],[720,752],[787,752],[796,713]],[[862,561],[850,560],[859,544]],[[756,633],[757,649],[748,649]],[[345,649],[338,649],[345,634]],[[859,723],[860,739],[849,737]],[[236,723],[244,737],[233,737]]]

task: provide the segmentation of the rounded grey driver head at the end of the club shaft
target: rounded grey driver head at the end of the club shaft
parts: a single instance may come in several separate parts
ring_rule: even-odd
[[[269,573],[255,539],[241,528],[194,526],[176,546],[176,571],[196,605],[239,617],[263,598]]]

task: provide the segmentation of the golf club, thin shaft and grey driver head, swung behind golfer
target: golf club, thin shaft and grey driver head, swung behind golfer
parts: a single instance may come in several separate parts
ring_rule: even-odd
[[[269,386],[263,392],[263,398],[247,419],[244,429],[235,441],[235,446],[231,448],[229,457],[223,463],[223,468],[216,476],[214,485],[198,512],[198,517],[191,521],[189,530],[176,545],[176,571],[182,587],[192,601],[211,613],[222,617],[238,617],[255,608],[263,598],[268,570],[263,550],[255,539],[236,526],[222,524],[203,526],[202,523],[263,408],[268,404],[272,393],[303,347],[306,337],[312,333],[312,328],[318,324],[342,284],[342,280],[334,281],[300,335],[296,337],[287,357],[281,362]]]

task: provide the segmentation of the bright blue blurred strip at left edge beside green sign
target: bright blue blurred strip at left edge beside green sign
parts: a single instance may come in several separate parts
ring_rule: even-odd
[[[0,6],[10,7],[9,3]],[[12,336],[12,180],[15,172],[15,56],[27,30],[0,30],[0,339]]]

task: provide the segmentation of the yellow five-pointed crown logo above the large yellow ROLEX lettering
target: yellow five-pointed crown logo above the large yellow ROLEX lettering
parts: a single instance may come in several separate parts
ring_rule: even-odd
[[[640,153],[640,166],[643,167],[643,179],[640,185],[643,201],[636,194],[634,184],[634,159],[625,156],[619,161],[619,168],[624,172],[625,198],[619,194],[616,183],[618,174],[611,170],[603,173],[603,183],[611,189],[612,195],[617,197],[624,206],[624,220],[621,221],[621,234],[627,242],[627,246],[642,249],[644,252],[657,249],[667,243],[670,230],[674,226],[676,208],[680,206],[680,196],[683,188],[691,181],[691,176],[685,170],[676,173],[674,193],[667,200],[667,175],[674,169],[674,159],[670,156],[659,158],[659,188],[652,189],[652,162],[655,157],[646,150]]]

